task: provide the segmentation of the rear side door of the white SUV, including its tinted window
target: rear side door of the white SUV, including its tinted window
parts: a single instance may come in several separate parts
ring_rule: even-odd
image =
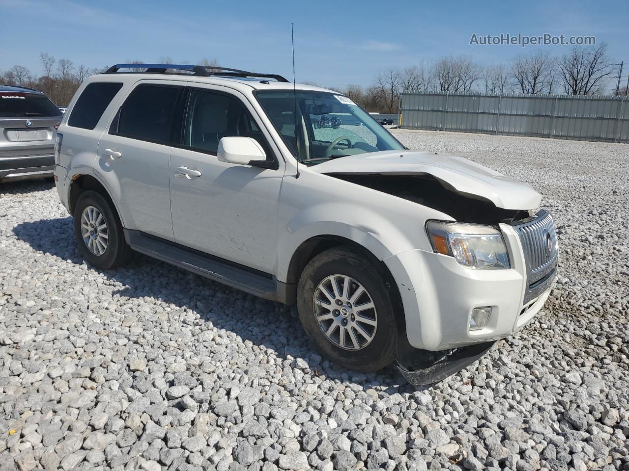
[[[115,114],[98,146],[97,167],[116,188],[127,229],[174,241],[170,151],[181,134],[184,84],[142,80]]]

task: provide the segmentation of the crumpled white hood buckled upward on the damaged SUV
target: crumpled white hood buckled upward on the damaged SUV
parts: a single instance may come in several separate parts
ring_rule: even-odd
[[[381,151],[348,155],[313,165],[310,170],[346,175],[432,175],[460,193],[486,198],[504,209],[539,207],[542,195],[532,187],[470,160],[417,151]]]

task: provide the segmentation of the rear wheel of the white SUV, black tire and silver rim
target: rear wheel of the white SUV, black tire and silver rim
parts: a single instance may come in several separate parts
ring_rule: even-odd
[[[100,214],[102,219],[97,214]],[[96,224],[91,228],[92,233],[98,237],[89,246],[88,239],[84,239],[86,232],[84,224],[91,219],[91,215],[96,215],[92,220],[97,223],[100,230]],[[113,205],[100,193],[88,190],[79,196],[74,208],[74,236],[84,259],[95,268],[103,270],[116,268],[131,258],[131,248],[126,244],[120,218]]]

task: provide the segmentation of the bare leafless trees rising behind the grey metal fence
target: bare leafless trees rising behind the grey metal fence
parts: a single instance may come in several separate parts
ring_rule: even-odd
[[[607,56],[607,45],[575,46],[561,56],[533,50],[507,63],[482,65],[469,57],[443,57],[406,68],[381,70],[368,87],[326,87],[347,95],[367,111],[397,113],[405,91],[437,93],[599,95],[616,78],[617,64]],[[313,84],[314,85],[314,84]],[[626,95],[627,87],[613,93]]]

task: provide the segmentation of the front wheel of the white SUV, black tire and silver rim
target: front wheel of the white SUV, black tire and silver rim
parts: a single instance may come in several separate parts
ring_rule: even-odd
[[[340,276],[333,278],[335,275]],[[335,296],[333,287],[330,289],[333,279],[341,296]],[[348,293],[345,293],[343,287],[347,281]],[[354,299],[357,305],[352,306],[348,298],[352,298],[352,295],[360,291],[357,284],[364,288],[367,297],[359,295]],[[325,295],[325,289],[328,295]],[[335,298],[334,301],[330,295]],[[329,302],[330,306],[338,309],[334,312],[333,308],[316,305],[315,299]],[[337,299],[342,305],[336,304]],[[367,306],[369,300],[372,301],[374,309],[357,309],[360,306]],[[299,278],[297,303],[299,320],[306,334],[333,362],[348,369],[376,372],[395,359],[398,327],[389,289],[372,263],[365,257],[347,249],[329,249],[315,256]],[[374,319],[377,321],[375,326]],[[344,338],[341,337],[343,322],[347,322]],[[337,325],[328,337],[323,330],[331,329],[335,323]],[[349,332],[350,328],[353,331],[353,338]],[[361,334],[359,329],[366,335]],[[371,338],[368,338],[370,335]]]

